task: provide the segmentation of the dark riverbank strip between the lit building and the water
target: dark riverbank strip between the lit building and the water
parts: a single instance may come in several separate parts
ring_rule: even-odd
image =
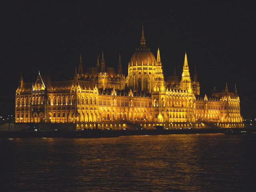
[[[0,138],[103,138],[131,135],[168,135],[168,134],[216,134],[226,129],[165,129],[165,130],[84,130],[84,131],[0,131]],[[239,129],[247,133],[252,129]]]

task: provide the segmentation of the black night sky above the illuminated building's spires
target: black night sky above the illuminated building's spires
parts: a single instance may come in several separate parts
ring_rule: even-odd
[[[232,4],[230,4],[232,2]],[[20,73],[35,82],[38,70],[52,80],[73,77],[82,52],[84,70],[104,50],[106,67],[123,71],[139,46],[159,45],[165,77],[182,66],[201,92],[216,87],[256,99],[255,6],[252,1],[6,1],[0,5],[0,97],[13,97]],[[7,94],[6,94],[7,92]]]

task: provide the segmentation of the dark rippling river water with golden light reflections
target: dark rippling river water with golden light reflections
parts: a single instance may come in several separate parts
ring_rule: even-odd
[[[0,139],[1,191],[256,191],[256,134]]]

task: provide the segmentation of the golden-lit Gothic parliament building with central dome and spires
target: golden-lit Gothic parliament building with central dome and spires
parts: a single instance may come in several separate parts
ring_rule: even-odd
[[[34,83],[26,83],[21,76],[15,102],[16,123],[72,123],[76,129],[244,126],[236,86],[234,92],[226,84],[224,91],[201,95],[196,70],[190,76],[186,53],[182,74],[174,70],[165,80],[160,50],[155,58],[146,46],[143,26],[128,76],[123,74],[120,56],[117,72],[105,66],[103,52],[95,67],[84,72],[80,55],[72,80],[51,81],[39,72]]]

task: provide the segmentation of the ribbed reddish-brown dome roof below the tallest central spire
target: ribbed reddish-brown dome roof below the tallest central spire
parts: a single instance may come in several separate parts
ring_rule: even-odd
[[[130,66],[153,66],[156,65],[156,58],[149,48],[140,46],[131,57]]]

